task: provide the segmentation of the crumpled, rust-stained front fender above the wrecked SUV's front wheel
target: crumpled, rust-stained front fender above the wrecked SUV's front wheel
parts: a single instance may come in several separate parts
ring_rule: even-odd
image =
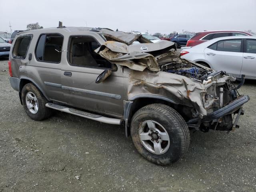
[[[200,114],[207,114],[201,98],[206,94],[204,85],[184,76],[148,70],[131,71],[128,99],[139,94],[164,95],[176,103],[195,108]]]

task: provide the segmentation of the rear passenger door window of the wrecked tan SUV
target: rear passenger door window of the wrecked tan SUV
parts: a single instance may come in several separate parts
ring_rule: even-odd
[[[63,36],[60,34],[43,34],[36,46],[38,61],[59,63],[61,60]]]

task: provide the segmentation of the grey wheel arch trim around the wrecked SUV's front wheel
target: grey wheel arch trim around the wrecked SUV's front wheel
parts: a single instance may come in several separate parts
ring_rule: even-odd
[[[166,104],[168,106],[175,106],[179,103],[165,96],[159,95],[136,95],[129,101],[124,101],[124,122],[125,122],[125,134],[126,137],[130,135],[130,121],[134,113],[140,108],[154,103]]]

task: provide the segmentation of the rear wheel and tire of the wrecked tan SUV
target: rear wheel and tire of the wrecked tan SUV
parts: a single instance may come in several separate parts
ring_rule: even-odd
[[[41,121],[52,114],[52,109],[45,106],[48,100],[32,83],[24,85],[21,99],[26,114],[33,120]]]

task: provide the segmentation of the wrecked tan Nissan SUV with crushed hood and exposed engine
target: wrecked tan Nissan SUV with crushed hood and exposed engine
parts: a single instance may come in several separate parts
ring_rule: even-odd
[[[12,44],[10,84],[33,120],[54,109],[124,125],[144,158],[170,164],[188,150],[190,130],[234,130],[249,100],[234,77],[172,49],[106,28],[27,30]]]

